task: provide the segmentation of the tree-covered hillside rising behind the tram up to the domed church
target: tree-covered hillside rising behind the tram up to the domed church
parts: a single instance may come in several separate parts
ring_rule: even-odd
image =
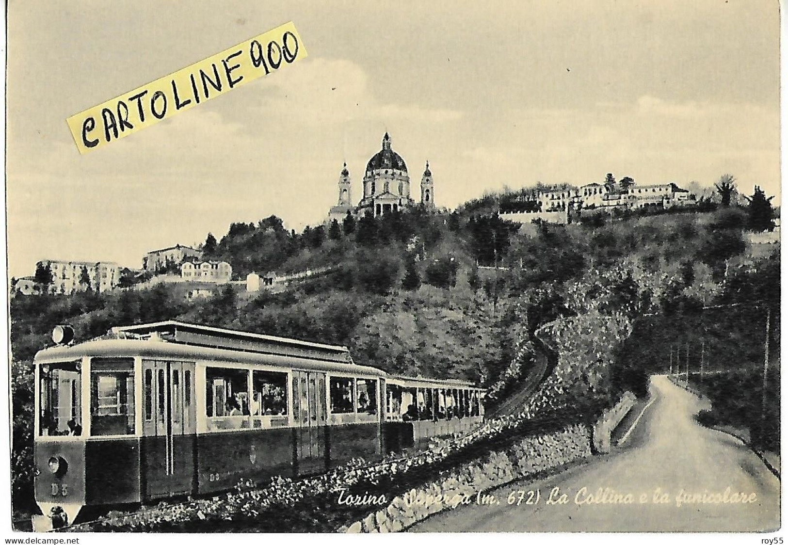
[[[494,404],[528,379],[537,358],[534,339],[549,336],[548,324],[593,332],[626,308],[634,331],[647,331],[631,346],[624,340],[620,350],[604,345],[605,376],[586,377],[575,394],[578,403],[583,391],[599,389],[606,399],[623,389],[643,395],[648,374],[664,370],[671,339],[697,344],[687,335],[697,331],[698,309],[757,297],[773,302],[779,320],[779,282],[769,284],[779,271],[779,245],[755,258],[745,236],[774,227],[770,199],[759,191],[746,207],[710,202],[704,212],[633,212],[568,225],[520,226],[492,213],[522,192],[485,195],[453,213],[417,207],[360,221],[348,216],[301,233],[272,216],[232,224],[219,240],[208,235],[203,253],[228,261],[242,278],[320,267],[330,273],[276,293],[227,285],[193,301],[167,284],[17,295],[11,300],[15,498],[30,502],[32,358],[51,344],[55,324],[72,324],[77,341],[116,325],[178,320],[340,344],[354,361],[392,373],[477,381],[489,387]],[[639,313],[653,317],[647,323]],[[745,327],[752,319],[744,313],[726,319],[717,336],[738,350],[717,349],[717,365],[749,365],[763,339]],[[561,331],[553,341],[565,337]],[[577,354],[598,349],[586,340],[576,342]]]

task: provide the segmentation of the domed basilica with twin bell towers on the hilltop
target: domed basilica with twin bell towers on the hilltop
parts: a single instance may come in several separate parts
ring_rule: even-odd
[[[329,209],[329,222],[340,223],[348,212],[356,218],[367,213],[380,216],[387,212],[408,209],[416,202],[411,197],[411,177],[407,173],[405,161],[392,150],[392,139],[388,132],[383,136],[381,150],[374,154],[366,163],[364,172],[364,196],[357,206],[352,204],[352,187],[348,164],[345,163],[338,184],[339,202]],[[426,206],[435,206],[435,190],[433,173],[429,172],[429,161],[422,174],[421,202]]]

